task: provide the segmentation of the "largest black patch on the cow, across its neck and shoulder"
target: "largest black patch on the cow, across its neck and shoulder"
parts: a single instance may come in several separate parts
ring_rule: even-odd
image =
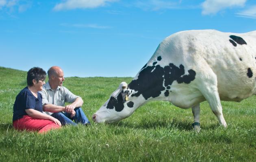
[[[156,98],[161,94],[161,91],[165,90],[165,87],[171,85],[174,81],[178,83],[189,84],[195,79],[195,71],[188,70],[189,74],[184,75],[184,66],[180,64],[179,67],[170,63],[169,66],[161,67],[148,66],[139,72],[138,79],[132,80],[128,87],[137,93],[132,96],[142,96],[147,100],[148,98]],[[165,79],[165,87],[163,87],[163,81]],[[169,92],[168,92],[169,93]]]

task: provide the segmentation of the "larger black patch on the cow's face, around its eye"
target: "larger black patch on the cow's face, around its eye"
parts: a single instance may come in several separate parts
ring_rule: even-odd
[[[117,98],[114,98],[113,96],[111,96],[111,98],[108,101],[108,105],[107,105],[107,109],[114,109],[115,107],[115,111],[120,112],[124,109],[124,100],[123,97],[121,95],[121,93],[119,93],[119,95],[117,96]]]

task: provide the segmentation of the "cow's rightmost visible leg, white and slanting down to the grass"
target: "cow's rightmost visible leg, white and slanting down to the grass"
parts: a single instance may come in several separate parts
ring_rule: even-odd
[[[217,83],[217,79],[216,79],[216,83]],[[208,101],[213,113],[219,119],[219,123],[226,128],[227,124],[222,114],[222,107],[219,99],[217,85],[205,85],[203,87],[204,88],[201,89],[201,92],[204,95],[204,98]]]

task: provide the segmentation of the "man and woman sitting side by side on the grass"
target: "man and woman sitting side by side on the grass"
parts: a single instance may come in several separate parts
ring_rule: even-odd
[[[90,124],[81,109],[82,98],[62,86],[63,70],[52,66],[47,73],[49,82],[45,83],[46,72],[42,68],[28,70],[28,86],[17,95],[13,105],[13,127],[43,133],[66,124]],[[71,104],[65,106],[65,102]]]

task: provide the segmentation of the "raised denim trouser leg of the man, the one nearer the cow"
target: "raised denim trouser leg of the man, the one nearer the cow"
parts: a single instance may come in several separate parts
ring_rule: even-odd
[[[81,124],[90,124],[89,119],[86,117],[85,113],[82,111],[81,107],[77,107],[74,109],[76,111],[76,115],[74,117],[70,117],[69,113],[64,113],[65,116],[67,116],[69,119],[74,120],[76,123],[81,123]]]

